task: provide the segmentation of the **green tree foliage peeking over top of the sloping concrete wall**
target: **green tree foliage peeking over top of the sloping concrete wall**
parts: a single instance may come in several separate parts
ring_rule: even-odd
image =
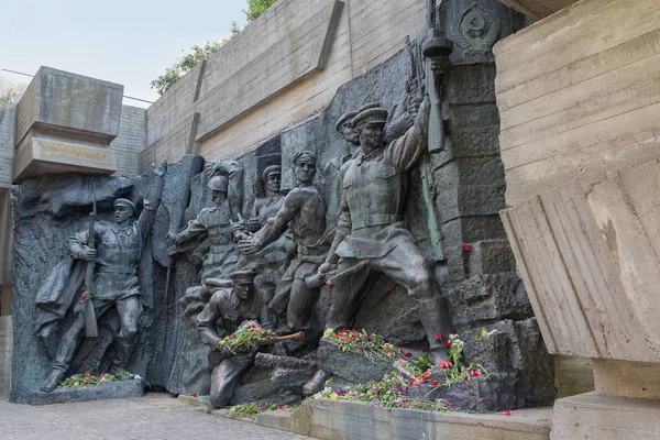
[[[246,0],[248,10],[243,11],[248,18],[248,22],[253,21],[258,15],[264,13],[273,3],[277,0]],[[176,63],[165,69],[165,73],[150,82],[152,89],[156,89],[158,95],[163,95],[168,88],[170,88],[176,81],[179,80],[188,70],[197,66],[202,59],[209,58],[216,52],[226,45],[231,38],[237,36],[241,29],[237,24],[235,20],[231,22],[230,28],[231,36],[222,40],[221,42],[208,41],[204,46],[194,45],[191,52],[185,54],[182,58],[178,58]],[[182,51],[183,52],[183,51]]]

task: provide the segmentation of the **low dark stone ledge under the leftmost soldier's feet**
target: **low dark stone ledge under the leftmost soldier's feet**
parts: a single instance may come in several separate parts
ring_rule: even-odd
[[[77,388],[57,388],[52,393],[28,394],[16,404],[52,405],[68,404],[74,402],[107,400],[144,396],[144,380],[117,381],[96,386],[81,386]]]

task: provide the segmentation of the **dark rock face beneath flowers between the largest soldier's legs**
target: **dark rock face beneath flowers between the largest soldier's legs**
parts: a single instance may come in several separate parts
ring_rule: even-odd
[[[326,338],[321,338],[316,363],[319,369],[354,384],[377,381],[392,371],[392,362],[371,361],[360,353],[342,352],[334,342]]]

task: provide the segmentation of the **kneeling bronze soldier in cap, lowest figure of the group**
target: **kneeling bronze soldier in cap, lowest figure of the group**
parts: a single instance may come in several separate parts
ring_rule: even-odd
[[[232,353],[227,345],[218,346],[221,338],[237,331],[245,320],[258,321],[272,329],[267,321],[266,305],[260,304],[254,295],[254,271],[230,274],[232,287],[220,288],[197,317],[197,329],[201,341],[216,352],[209,356],[215,362],[210,366],[211,405],[215,408],[227,406],[243,375],[254,364],[252,351]]]

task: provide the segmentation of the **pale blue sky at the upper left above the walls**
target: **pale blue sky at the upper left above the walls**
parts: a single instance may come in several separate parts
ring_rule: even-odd
[[[148,84],[194,44],[229,36],[232,20],[244,26],[246,8],[245,0],[0,0],[0,69],[34,75],[54,67],[155,101]],[[0,77],[30,82],[3,70]],[[148,107],[125,98],[124,105]]]

